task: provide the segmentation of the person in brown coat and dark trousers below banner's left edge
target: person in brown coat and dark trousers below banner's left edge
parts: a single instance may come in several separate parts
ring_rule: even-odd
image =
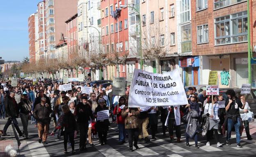
[[[139,149],[137,143],[139,138],[139,129],[138,129],[138,115],[139,115],[138,108],[128,108],[125,107],[122,110],[122,117],[125,118],[124,125],[126,132],[128,133],[128,140],[129,140],[129,151],[133,151],[133,146],[135,146],[136,150]],[[134,141],[134,144],[133,144]]]

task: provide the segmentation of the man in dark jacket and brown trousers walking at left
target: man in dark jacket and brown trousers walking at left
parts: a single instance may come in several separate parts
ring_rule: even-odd
[[[33,112],[33,116],[37,119],[39,143],[41,143],[43,139],[43,144],[46,144],[50,124],[50,113],[52,113],[52,109],[46,102],[46,97],[42,97],[41,103],[35,106]]]

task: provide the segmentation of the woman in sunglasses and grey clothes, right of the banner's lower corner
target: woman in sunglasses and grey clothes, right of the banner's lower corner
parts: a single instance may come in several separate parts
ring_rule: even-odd
[[[197,96],[195,94],[191,94],[189,104],[185,106],[185,115],[187,115],[187,124],[186,128],[186,146],[190,146],[189,138],[194,138],[195,148],[198,149],[198,135],[197,135],[197,127],[198,127],[198,119],[200,113],[201,102],[198,102]],[[185,116],[184,115],[184,116]]]

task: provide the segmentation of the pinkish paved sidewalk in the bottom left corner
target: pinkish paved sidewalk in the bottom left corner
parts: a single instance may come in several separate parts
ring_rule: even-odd
[[[4,126],[7,122],[7,118],[6,119],[0,119],[0,130],[4,129]],[[5,153],[5,147],[8,146],[9,144],[17,151],[17,155],[19,154],[18,151],[18,142],[15,138],[15,134],[14,134],[14,130],[12,128],[12,125],[9,126],[9,128],[7,129],[6,132],[8,135],[7,137],[2,137],[2,140],[0,140],[0,157],[9,157],[9,155],[7,155]]]

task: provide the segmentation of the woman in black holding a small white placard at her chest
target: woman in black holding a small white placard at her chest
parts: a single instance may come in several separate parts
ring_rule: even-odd
[[[94,117],[97,118],[98,116],[97,113],[105,110],[109,111],[108,107],[106,106],[105,100],[103,98],[100,98],[98,100],[98,107],[96,107],[94,112]],[[108,126],[110,125],[108,118],[99,120],[99,117],[98,117],[96,121],[96,129],[98,131],[98,137],[101,145],[107,144],[107,131],[108,131]]]

